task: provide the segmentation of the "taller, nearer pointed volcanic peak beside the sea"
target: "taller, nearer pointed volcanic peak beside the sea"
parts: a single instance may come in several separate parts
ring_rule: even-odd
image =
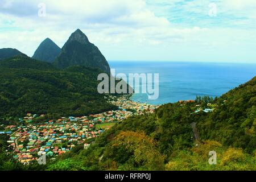
[[[102,71],[110,74],[108,61],[79,29],[69,37],[53,64],[59,68],[67,68],[72,65],[100,68]]]

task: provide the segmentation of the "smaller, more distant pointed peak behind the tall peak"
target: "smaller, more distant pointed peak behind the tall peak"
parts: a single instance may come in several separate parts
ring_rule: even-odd
[[[44,40],[36,49],[33,59],[52,63],[59,56],[61,49],[51,39]]]

